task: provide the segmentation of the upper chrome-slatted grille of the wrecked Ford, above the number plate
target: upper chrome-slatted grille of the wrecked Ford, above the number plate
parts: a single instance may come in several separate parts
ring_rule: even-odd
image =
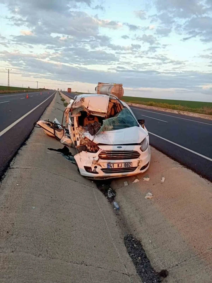
[[[99,154],[100,159],[119,160],[119,159],[136,159],[140,153],[134,150],[107,150]]]

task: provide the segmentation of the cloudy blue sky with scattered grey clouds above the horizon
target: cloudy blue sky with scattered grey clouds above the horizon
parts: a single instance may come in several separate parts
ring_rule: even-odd
[[[212,0],[0,0],[0,83],[212,101]]]

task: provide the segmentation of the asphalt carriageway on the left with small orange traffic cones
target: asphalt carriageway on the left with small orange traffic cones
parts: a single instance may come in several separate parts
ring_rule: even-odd
[[[25,142],[55,91],[0,95],[0,178]]]

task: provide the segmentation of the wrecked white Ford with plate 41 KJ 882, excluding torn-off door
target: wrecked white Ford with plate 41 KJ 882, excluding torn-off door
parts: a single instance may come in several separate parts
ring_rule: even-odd
[[[66,108],[66,122],[81,175],[113,178],[145,172],[150,146],[144,120],[112,94],[81,94]]]

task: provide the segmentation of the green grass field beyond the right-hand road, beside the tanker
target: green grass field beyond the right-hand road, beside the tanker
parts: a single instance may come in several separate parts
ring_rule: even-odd
[[[212,115],[212,102],[157,99],[132,96],[123,96],[122,100],[129,103]]]

